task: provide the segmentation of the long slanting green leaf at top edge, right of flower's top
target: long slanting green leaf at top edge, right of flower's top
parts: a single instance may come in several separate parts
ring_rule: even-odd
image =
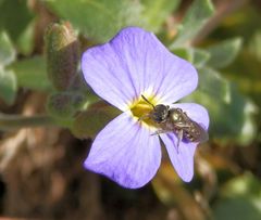
[[[188,9],[182,26],[178,28],[177,38],[171,48],[174,49],[191,41],[213,13],[214,8],[211,0],[195,0]]]

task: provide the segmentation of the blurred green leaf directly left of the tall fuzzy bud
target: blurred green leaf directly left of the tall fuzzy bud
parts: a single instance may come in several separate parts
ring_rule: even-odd
[[[9,68],[17,77],[20,87],[40,91],[50,91],[52,88],[47,77],[46,60],[42,56],[17,61]]]

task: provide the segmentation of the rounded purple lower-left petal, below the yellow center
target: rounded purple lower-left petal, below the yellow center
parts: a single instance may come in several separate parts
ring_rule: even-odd
[[[99,132],[85,167],[129,189],[141,187],[161,163],[158,137],[123,113]]]

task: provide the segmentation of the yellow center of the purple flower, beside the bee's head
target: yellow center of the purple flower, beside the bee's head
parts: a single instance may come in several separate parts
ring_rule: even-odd
[[[130,104],[129,109],[133,116],[136,119],[140,120],[141,124],[154,129],[158,127],[158,125],[149,118],[149,114],[151,111],[153,111],[152,105],[156,106],[159,101],[156,96],[152,95],[145,95],[145,98],[149,101],[149,103],[140,96],[137,101]]]

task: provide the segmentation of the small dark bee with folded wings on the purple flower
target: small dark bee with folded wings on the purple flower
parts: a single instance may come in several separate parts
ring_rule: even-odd
[[[209,139],[209,134],[206,129],[188,117],[187,113],[182,108],[171,108],[169,105],[153,105],[144,95],[141,98],[150,104],[153,109],[139,118],[149,117],[154,121],[159,129],[153,134],[174,132],[177,135],[177,150],[181,141],[189,142],[206,142]]]

